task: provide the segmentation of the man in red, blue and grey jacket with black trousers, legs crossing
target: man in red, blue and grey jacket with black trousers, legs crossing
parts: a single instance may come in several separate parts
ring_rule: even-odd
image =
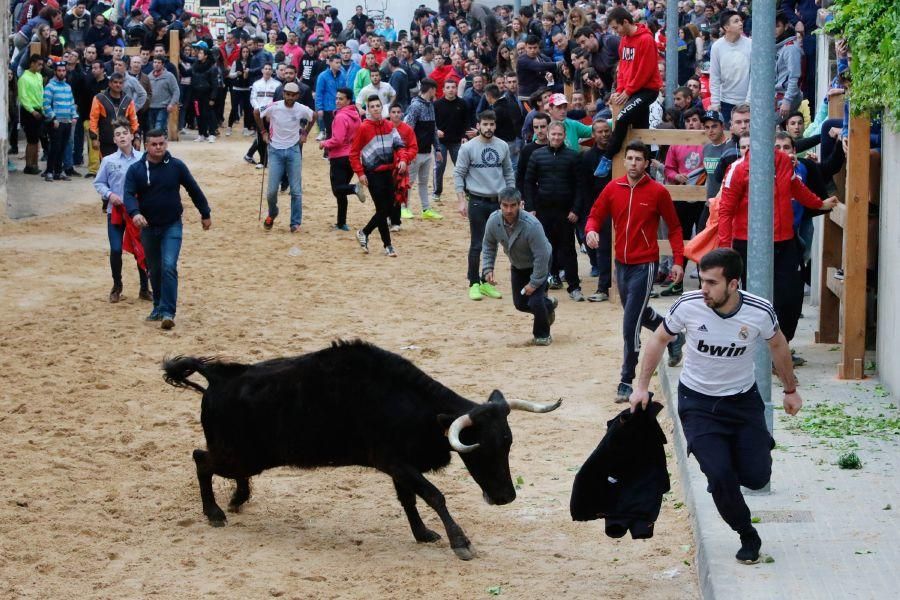
[[[393,123],[382,118],[381,99],[374,94],[369,96],[366,108],[371,118],[363,121],[356,130],[356,137],[350,145],[350,166],[359,183],[369,188],[375,214],[365,227],[356,232],[356,239],[363,252],[368,254],[369,234],[377,227],[384,244],[384,254],[396,257],[388,229],[388,217],[394,205],[394,164],[398,173],[402,174],[409,165],[409,158]]]

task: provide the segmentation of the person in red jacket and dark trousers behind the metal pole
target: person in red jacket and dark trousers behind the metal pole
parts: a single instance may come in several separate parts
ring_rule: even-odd
[[[734,248],[744,260],[744,287],[747,282],[747,223],[750,191],[750,153],[736,160],[722,182],[719,202],[719,246]],[[791,199],[816,210],[830,210],[837,198],[821,200],[809,191],[794,173],[791,157],[775,151],[775,205],[773,239],[775,241],[773,302],[778,324],[790,342],[797,331],[803,310],[803,252],[794,235],[794,211]]]

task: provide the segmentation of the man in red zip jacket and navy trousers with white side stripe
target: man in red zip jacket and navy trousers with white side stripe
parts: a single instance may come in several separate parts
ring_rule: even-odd
[[[682,257],[684,240],[681,221],[669,192],[654,181],[646,170],[650,164],[650,149],[642,142],[631,142],[625,150],[625,177],[613,179],[594,202],[585,226],[587,245],[597,248],[600,229],[612,215],[616,240],[616,285],[625,314],[622,318],[622,337],[625,339],[625,358],[622,380],[616,390],[616,402],[628,402],[631,382],[641,349],[641,326],[655,331],[663,322],[653,307],[647,305],[650,290],[659,266],[659,245],[656,234],[662,217],[669,226],[672,244],[675,283],[684,277]],[[669,365],[681,362],[684,335],[678,334],[669,343]]]

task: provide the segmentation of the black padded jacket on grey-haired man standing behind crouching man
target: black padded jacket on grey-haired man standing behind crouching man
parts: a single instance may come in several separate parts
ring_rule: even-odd
[[[578,153],[565,144],[535,150],[525,167],[525,210],[578,214],[582,203],[578,185],[580,165]]]

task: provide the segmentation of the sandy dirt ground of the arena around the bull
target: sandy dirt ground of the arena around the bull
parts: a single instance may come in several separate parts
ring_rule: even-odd
[[[468,225],[455,203],[444,202],[441,222],[404,224],[399,258],[364,256],[352,232],[331,229],[328,164],[311,147],[302,233],[287,232],[285,195],[282,217],[265,233],[260,172],[240,160],[246,144],[239,136],[173,144],[210,199],[213,228],[201,230],[185,195],[171,332],[143,321],[150,307],[136,298],[129,256],[126,298],[107,303],[105,220],[87,181],[28,178],[64,193],[64,208],[0,223],[0,597],[696,597],[677,482],[651,540],[612,540],[602,521],[569,517],[575,471],[620,410],[611,399],[621,309],[555,292],[554,343],[531,346],[531,318],[512,307],[505,258],[504,299],[467,299]],[[350,224],[362,226],[372,205],[350,202]],[[585,291],[595,285],[588,279]],[[164,384],[161,359],[257,361],[336,338],[401,353],[476,401],[494,388],[564,399],[554,413],[510,417],[510,465],[521,478],[513,504],[487,506],[458,458],[429,475],[475,560],[459,561],[445,535],[416,544],[390,480],[361,468],[266,472],[227,527],[206,523],[191,460],[204,444],[200,397]],[[220,503],[232,487],[215,479]],[[443,534],[433,512],[422,515]]]

